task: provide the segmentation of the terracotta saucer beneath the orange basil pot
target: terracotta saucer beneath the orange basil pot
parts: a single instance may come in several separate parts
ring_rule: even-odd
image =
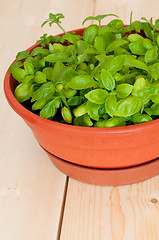
[[[94,185],[128,185],[147,180],[159,174],[158,158],[133,167],[102,169],[80,166],[58,158],[47,151],[46,153],[61,172],[78,181]]]

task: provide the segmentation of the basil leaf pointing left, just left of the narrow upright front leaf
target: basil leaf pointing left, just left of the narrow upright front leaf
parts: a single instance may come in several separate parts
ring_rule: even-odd
[[[84,96],[93,103],[96,104],[103,104],[105,103],[105,99],[108,95],[108,92],[104,89],[94,89],[90,92],[88,92],[87,94],[85,94]]]

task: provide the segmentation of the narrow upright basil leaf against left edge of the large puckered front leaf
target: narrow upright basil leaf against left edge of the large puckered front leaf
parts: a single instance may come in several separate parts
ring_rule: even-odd
[[[116,97],[114,95],[108,95],[108,97],[105,100],[105,110],[111,117],[113,117],[116,107],[117,107]]]

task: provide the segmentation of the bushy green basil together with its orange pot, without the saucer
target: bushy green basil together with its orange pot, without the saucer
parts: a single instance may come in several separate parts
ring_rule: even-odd
[[[105,17],[113,17],[106,26]],[[81,166],[121,168],[159,156],[159,19],[125,26],[115,14],[19,52],[5,77],[12,108],[50,154]]]

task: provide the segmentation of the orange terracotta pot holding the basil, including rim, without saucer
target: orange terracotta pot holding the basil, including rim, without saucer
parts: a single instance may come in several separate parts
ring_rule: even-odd
[[[83,29],[75,32],[82,34]],[[59,158],[92,168],[123,168],[159,157],[159,120],[113,128],[57,123],[24,108],[13,95],[16,86],[8,70],[4,90],[10,106],[32,129],[39,144]]]

